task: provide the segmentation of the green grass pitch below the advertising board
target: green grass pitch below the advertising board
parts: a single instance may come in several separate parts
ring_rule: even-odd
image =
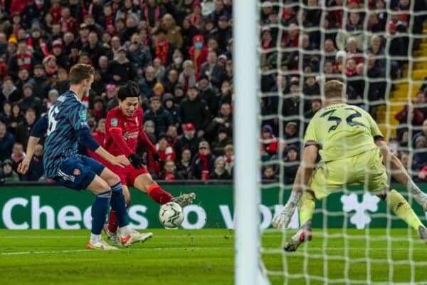
[[[117,252],[85,250],[88,230],[0,230],[0,284],[233,284],[233,232],[227,229],[165,230],[154,229],[154,237],[144,244]],[[295,230],[287,231],[290,237]],[[320,231],[321,232],[321,231]],[[297,252],[282,254],[279,246],[285,241],[281,232],[268,230],[263,234],[263,261],[271,273],[272,284],[283,284],[283,258],[288,262],[292,275],[288,284],[305,284],[304,267],[312,276],[344,279],[348,251],[349,279],[367,280],[367,263],[364,259],[367,244],[364,231],[347,230],[348,243],[344,244],[341,229],[330,229],[326,249],[325,239],[316,235]],[[394,263],[394,282],[411,281],[408,264],[408,232],[406,229],[391,230],[392,244],[389,255]],[[382,259],[371,263],[371,280],[388,281],[387,240],[384,229],[371,229],[369,256]],[[412,234],[413,258],[425,261],[426,244]],[[322,252],[330,259],[325,269]],[[308,258],[305,258],[305,252]],[[306,265],[305,265],[306,264]],[[415,280],[427,281],[426,264],[415,266]],[[280,275],[281,274],[281,275]],[[310,279],[310,284],[324,284]],[[335,282],[344,284],[344,281]]]

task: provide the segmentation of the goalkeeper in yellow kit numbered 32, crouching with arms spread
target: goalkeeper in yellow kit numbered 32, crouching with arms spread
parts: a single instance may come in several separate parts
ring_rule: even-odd
[[[387,184],[387,165],[391,174],[427,210],[427,195],[411,177],[384,142],[371,115],[357,106],[347,105],[345,86],[340,81],[325,83],[325,108],[310,121],[305,133],[302,164],[297,170],[292,193],[283,211],[273,217],[273,227],[288,227],[298,206],[301,227],[285,244],[285,251],[295,252],[302,242],[312,239],[311,222],[315,199],[351,184],[367,185],[369,191],[386,200],[398,217],[418,232],[427,243],[427,229],[406,199]],[[317,151],[321,160],[315,166]]]

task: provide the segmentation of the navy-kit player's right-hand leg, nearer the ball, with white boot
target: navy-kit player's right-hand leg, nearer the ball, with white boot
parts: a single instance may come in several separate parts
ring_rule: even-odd
[[[120,177],[114,172],[112,172],[110,169],[108,169],[108,167],[105,167],[104,165],[100,164],[100,162],[97,162],[96,160],[93,160],[90,157],[82,157],[82,161],[85,165],[87,165],[87,167],[90,167],[93,172],[97,173],[97,175],[99,175],[102,180],[105,180],[107,185],[110,186],[110,205],[112,207],[112,210],[115,212],[115,217],[117,219],[117,224],[120,232],[120,242],[126,247],[128,247],[135,242],[144,242],[147,239],[151,238],[151,232],[142,234],[136,232],[129,226],[129,221],[127,219],[126,212],[125,196],[123,195]],[[103,225],[104,224],[102,224],[102,227]]]

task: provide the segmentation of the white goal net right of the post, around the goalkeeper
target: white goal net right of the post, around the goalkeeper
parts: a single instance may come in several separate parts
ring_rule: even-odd
[[[317,200],[313,239],[296,252],[283,247],[300,227],[298,211],[289,229],[270,226],[290,195],[305,129],[332,79],[346,84],[350,104],[371,114],[426,192],[425,2],[263,0],[259,10],[261,207],[271,212],[261,215],[264,274],[271,284],[426,284],[426,244],[368,185]],[[389,183],[426,224],[405,185],[391,175]]]

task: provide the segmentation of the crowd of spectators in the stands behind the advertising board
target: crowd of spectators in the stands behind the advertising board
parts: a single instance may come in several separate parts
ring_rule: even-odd
[[[422,32],[423,16],[408,13],[410,1],[415,11],[426,10],[422,0],[372,0],[364,11],[362,0],[260,1],[260,106],[269,118],[262,122],[260,156],[285,165],[279,171],[277,163],[267,163],[263,179],[283,175],[292,183],[304,130],[322,108],[322,82],[344,78],[350,102],[376,116],[393,88],[386,79],[400,78],[404,58],[411,54],[408,33]],[[157,163],[138,147],[153,177],[231,179],[232,0],[10,0],[0,5],[1,177],[46,180],[43,145],[37,146],[26,175],[18,175],[16,167],[34,123],[68,89],[70,67],[88,63],[96,73],[84,103],[98,141],[105,137],[107,112],[117,106],[118,88],[132,80],[143,94],[144,131],[161,157]],[[416,48],[417,41],[411,42]],[[418,112],[426,101],[421,91],[416,103],[398,114],[403,122],[423,124],[421,133],[412,134],[414,148],[427,147],[425,107]],[[399,132],[396,151],[426,177],[427,152],[411,157],[401,151],[408,145],[407,129]]]

